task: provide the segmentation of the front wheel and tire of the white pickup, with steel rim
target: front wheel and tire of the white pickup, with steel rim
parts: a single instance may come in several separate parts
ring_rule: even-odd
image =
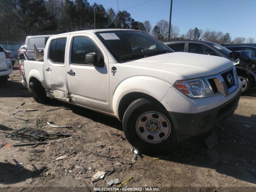
[[[177,134],[166,109],[146,99],[135,100],[128,106],[122,126],[127,140],[142,153],[165,154],[178,145]]]

